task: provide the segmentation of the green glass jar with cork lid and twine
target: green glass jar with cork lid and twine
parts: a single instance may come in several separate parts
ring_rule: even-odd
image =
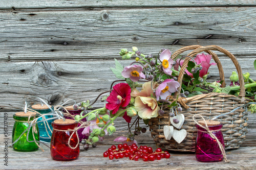
[[[15,123],[14,123],[13,130],[12,130],[12,143],[14,141],[16,141],[19,138],[19,136],[22,135],[22,133],[29,127],[28,119],[29,119],[30,115],[31,115],[30,120],[29,120],[30,123],[35,117],[38,117],[36,115],[36,113],[34,113],[34,112],[27,112],[27,113],[17,112],[13,115]],[[34,127],[34,137],[33,137],[33,127],[31,127],[29,134],[28,134],[28,130],[27,130],[19,138],[19,140],[17,142],[12,144],[14,151],[31,152],[31,151],[38,150],[39,143],[37,145],[35,142],[27,141],[27,135],[29,135],[28,136],[29,141],[34,141],[34,137],[35,137],[35,140],[37,140],[37,141],[39,140],[39,130],[38,130],[37,124]]]

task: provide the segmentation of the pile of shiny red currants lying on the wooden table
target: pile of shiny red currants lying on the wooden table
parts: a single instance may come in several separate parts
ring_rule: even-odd
[[[161,148],[156,149],[154,152],[151,147],[146,145],[138,147],[135,143],[132,145],[118,144],[116,147],[112,145],[108,151],[103,153],[103,157],[109,157],[109,159],[119,159],[123,157],[129,157],[130,160],[138,161],[142,159],[143,161],[154,161],[155,159],[160,160],[161,158],[168,159],[170,154],[168,151],[162,151]]]

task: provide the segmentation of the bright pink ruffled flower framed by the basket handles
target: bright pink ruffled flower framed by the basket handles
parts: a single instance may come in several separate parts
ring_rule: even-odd
[[[195,61],[197,64],[201,64],[203,69],[200,70],[199,76],[203,77],[208,73],[208,69],[211,65],[216,65],[216,63],[210,63],[211,55],[209,54],[198,54],[197,57],[195,58]]]

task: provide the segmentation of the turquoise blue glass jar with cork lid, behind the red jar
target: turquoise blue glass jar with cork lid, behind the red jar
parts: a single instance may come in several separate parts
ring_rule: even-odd
[[[50,106],[52,109],[53,107]],[[37,111],[40,114],[47,114],[47,113],[52,113],[51,109],[47,106],[47,105],[40,105],[40,104],[36,104],[31,106],[31,108],[35,111]],[[53,115],[46,115],[45,118],[52,118]],[[37,122],[43,120],[42,117],[37,119]],[[38,129],[39,129],[39,137],[41,141],[45,141],[45,142],[51,142],[51,136],[52,136],[52,122],[54,121],[54,119],[51,120],[47,120],[45,122],[39,122],[38,125]],[[47,125],[48,123],[48,125]]]

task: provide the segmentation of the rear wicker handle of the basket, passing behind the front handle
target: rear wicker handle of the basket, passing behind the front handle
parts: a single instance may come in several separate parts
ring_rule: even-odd
[[[201,46],[201,45],[189,45],[189,46],[182,47],[172,55],[172,59],[174,60],[178,55],[180,55],[181,53],[183,53],[187,50],[195,50],[195,49],[200,48],[200,47],[203,47],[203,46]],[[226,87],[223,67],[221,65],[221,62],[220,62],[218,56],[210,50],[206,50],[205,52],[208,53],[209,55],[211,55],[212,58],[214,59],[215,63],[217,64],[218,69],[219,69],[219,74],[220,74],[220,81],[222,81],[222,87]]]

